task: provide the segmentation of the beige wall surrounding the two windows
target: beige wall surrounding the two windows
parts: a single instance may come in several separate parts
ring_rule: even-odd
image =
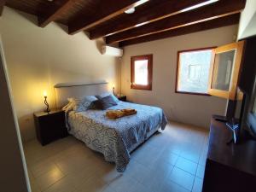
[[[163,108],[170,120],[208,127],[212,113],[225,113],[226,100],[175,93],[177,51],[229,44],[236,34],[237,26],[226,26],[125,47],[121,67],[122,93],[132,102]],[[153,90],[131,90],[131,56],[145,54],[154,57]]]

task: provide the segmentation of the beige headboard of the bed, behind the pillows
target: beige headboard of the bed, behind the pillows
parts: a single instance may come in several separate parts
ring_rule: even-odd
[[[83,96],[96,96],[110,92],[107,82],[79,83],[79,84],[55,84],[56,108],[62,108],[67,104],[67,98],[81,99]]]

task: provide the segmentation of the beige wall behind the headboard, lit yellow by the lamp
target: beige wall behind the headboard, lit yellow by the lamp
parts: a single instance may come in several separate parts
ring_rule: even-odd
[[[0,32],[13,90],[15,110],[24,141],[35,137],[32,113],[43,110],[43,91],[54,106],[53,85],[99,79],[119,89],[119,61],[101,55],[102,41],[90,41],[80,32],[70,36],[64,26],[37,26],[37,18],[7,7]]]

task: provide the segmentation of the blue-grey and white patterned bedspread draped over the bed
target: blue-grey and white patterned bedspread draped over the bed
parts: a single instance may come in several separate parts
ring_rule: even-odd
[[[109,109],[134,108],[137,114],[119,119],[108,119],[106,110],[87,110],[67,114],[68,131],[89,148],[115,162],[118,172],[125,172],[130,153],[159,128],[166,127],[166,116],[161,108],[119,102]]]

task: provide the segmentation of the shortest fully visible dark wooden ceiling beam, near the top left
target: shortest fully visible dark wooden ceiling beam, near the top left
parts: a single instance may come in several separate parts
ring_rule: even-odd
[[[45,13],[38,15],[38,26],[44,27],[47,26],[51,21],[54,21],[58,18],[61,13],[73,6],[76,0],[60,0],[54,1],[49,5]]]

